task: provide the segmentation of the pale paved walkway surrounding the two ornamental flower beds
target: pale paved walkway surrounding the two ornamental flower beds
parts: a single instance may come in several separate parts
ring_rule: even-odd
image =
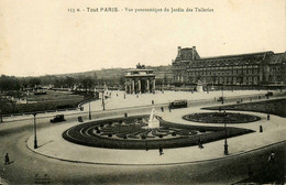
[[[223,154],[224,144],[224,127],[220,124],[195,123],[182,119],[188,112],[208,112],[199,109],[187,108],[182,110],[174,110],[169,112],[158,112],[161,117],[161,127],[155,128],[156,131],[164,131],[161,133],[173,133],[174,130],[180,130],[180,134],[173,137],[172,134],[160,135],[153,138],[132,138],[128,134],[127,139],[120,138],[120,133],[112,133],[118,130],[117,127],[128,127],[134,129],[131,135],[138,132],[136,129],[147,129],[144,126],[146,115],[130,115],[128,119],[120,117],[108,117],[98,120],[79,123],[77,121],[59,123],[48,129],[41,129],[37,133],[38,148],[33,149],[34,137],[29,138],[28,146],[37,154],[68,162],[87,163],[87,164],[108,164],[108,165],[173,165],[185,164],[199,161],[228,159],[240,155],[246,151],[252,151],[261,146],[273,144],[278,141],[284,141],[280,138],[283,130],[279,130],[283,118],[273,116],[272,123],[266,121],[265,113],[250,112],[260,117],[261,120],[243,123],[232,124],[227,127],[228,143],[230,155]],[[233,112],[233,111],[231,111]],[[239,113],[238,111],[235,113]],[[245,113],[246,115],[246,113]],[[119,126],[119,122],[121,122]],[[134,121],[143,121],[142,126]],[[102,126],[100,126],[102,124]],[[258,132],[258,126],[262,124],[265,129],[263,133]],[[277,124],[277,126],[276,126]],[[96,127],[100,130],[100,135]],[[166,130],[168,128],[168,130]],[[127,129],[128,130],[128,129]],[[193,130],[193,131],[190,131]],[[124,131],[124,129],[122,129]],[[131,131],[131,129],[130,129]],[[63,138],[64,133],[70,138]],[[89,134],[92,132],[92,134]],[[273,137],[275,132],[276,137]],[[152,131],[150,132],[152,134]],[[184,135],[184,134],[185,135]],[[231,133],[240,133],[230,135]],[[246,133],[246,134],[243,134]],[[72,135],[75,135],[72,138]],[[204,141],[204,150],[198,148],[198,139]],[[73,141],[72,141],[73,140]],[[253,142],[245,142],[253,141]],[[147,142],[147,150],[146,150]],[[98,145],[100,143],[100,145]],[[153,143],[153,145],[152,145]],[[164,155],[158,154],[158,144],[164,149]]]

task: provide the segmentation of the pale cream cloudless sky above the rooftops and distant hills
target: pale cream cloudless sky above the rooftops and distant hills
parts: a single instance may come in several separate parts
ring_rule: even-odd
[[[163,12],[134,12],[152,8]],[[0,0],[0,75],[170,65],[178,46],[196,46],[201,57],[284,53],[285,0]]]

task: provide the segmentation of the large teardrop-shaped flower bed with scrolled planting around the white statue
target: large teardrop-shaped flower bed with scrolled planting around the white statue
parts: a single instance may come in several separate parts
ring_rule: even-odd
[[[186,126],[160,119],[160,128],[147,127],[148,116],[108,119],[78,124],[63,133],[63,138],[77,144],[109,149],[165,149],[197,145],[224,139],[223,127]],[[228,128],[227,135],[237,137],[253,132]]]

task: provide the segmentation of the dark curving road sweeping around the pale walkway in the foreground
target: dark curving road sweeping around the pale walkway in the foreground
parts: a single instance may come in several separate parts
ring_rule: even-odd
[[[75,120],[76,117],[68,116],[67,119]],[[37,120],[37,127],[53,127],[48,120],[50,118]],[[3,165],[1,160],[0,167],[4,167],[3,177],[11,184],[34,184],[36,175],[41,177],[45,174],[51,177],[51,184],[231,184],[248,178],[250,174],[265,176],[271,151],[276,153],[275,166],[279,170],[279,178],[285,166],[285,142],[235,157],[180,165],[69,163],[48,159],[29,150],[25,142],[32,132],[33,120],[0,124],[0,156],[3,159],[4,153],[9,152],[13,162]]]

